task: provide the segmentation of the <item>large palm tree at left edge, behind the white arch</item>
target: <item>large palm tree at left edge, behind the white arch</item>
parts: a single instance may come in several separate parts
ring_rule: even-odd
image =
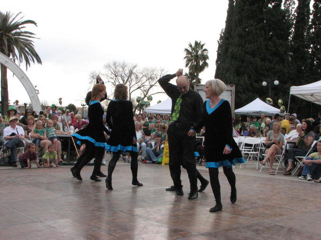
[[[30,62],[37,61],[42,63],[40,56],[35,50],[33,38],[35,33],[25,30],[26,24],[37,23],[33,20],[22,20],[18,14],[11,14],[10,11],[0,11],[0,51],[8,57],[12,57],[14,61],[17,59],[19,64],[24,60],[26,69],[30,66]],[[7,67],[1,64],[1,104],[3,113],[8,110],[8,79]]]

